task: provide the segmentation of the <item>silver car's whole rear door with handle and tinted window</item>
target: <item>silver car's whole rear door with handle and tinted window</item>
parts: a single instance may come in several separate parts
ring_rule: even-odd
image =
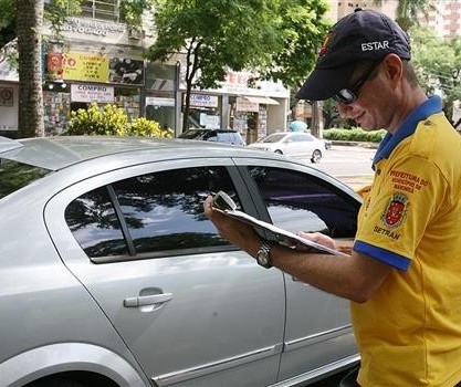
[[[157,386],[268,386],[282,351],[283,274],[258,266],[203,216],[212,190],[251,205],[239,200],[231,161],[191,164],[78,182],[46,206],[50,234]]]

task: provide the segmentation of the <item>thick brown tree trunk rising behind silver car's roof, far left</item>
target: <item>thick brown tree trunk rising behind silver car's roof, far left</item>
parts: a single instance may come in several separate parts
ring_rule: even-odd
[[[17,0],[18,137],[44,136],[42,35],[44,0]]]

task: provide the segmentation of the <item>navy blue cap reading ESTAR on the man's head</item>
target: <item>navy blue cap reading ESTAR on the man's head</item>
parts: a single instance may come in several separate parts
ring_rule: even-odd
[[[411,59],[408,34],[384,13],[357,9],[328,32],[315,69],[296,97],[327,100],[347,87],[358,61],[379,61],[390,53],[402,60]]]

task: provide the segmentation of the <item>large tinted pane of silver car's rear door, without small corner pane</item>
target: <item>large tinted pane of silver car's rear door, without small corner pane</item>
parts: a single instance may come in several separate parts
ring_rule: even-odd
[[[203,216],[208,192],[234,189],[224,168],[187,168],[113,185],[137,253],[228,244]]]

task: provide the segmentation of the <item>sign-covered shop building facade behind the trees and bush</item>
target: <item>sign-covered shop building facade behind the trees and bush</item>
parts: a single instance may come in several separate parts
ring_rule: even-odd
[[[43,100],[46,135],[67,129],[72,111],[115,104],[132,118],[145,116],[169,127],[182,128],[185,70],[181,55],[168,63],[143,57],[153,43],[143,28],[133,29],[119,18],[117,0],[82,1],[80,17],[69,18],[57,41],[44,27],[42,46]],[[188,127],[235,128],[252,142],[285,127],[290,91],[280,83],[249,87],[251,74],[228,72],[217,90],[193,91]],[[18,74],[0,65],[2,135],[15,137]]]

